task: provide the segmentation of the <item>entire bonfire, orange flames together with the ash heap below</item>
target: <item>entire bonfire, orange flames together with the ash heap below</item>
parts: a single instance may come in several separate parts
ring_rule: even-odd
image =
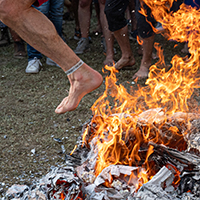
[[[105,92],[65,166],[28,191],[8,191],[8,198],[199,199],[200,115],[188,100],[199,88],[200,11],[182,4],[170,13],[172,0],[145,2],[169,39],[188,42],[191,56],[174,56],[166,71],[156,44],[160,60],[134,95],[116,84],[117,71],[106,66]]]

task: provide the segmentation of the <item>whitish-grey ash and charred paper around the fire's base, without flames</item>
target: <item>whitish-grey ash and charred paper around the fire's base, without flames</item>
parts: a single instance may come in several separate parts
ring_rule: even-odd
[[[122,116],[126,117],[126,114],[123,113],[114,115],[119,115],[120,119],[122,119]],[[127,115],[127,117],[130,118],[131,115]],[[65,195],[65,200],[71,200],[72,198],[76,199],[83,192],[83,195],[87,194],[87,196],[83,197],[85,200],[197,200],[200,197],[200,158],[191,154],[189,150],[192,148],[200,149],[200,128],[198,128],[200,127],[200,116],[193,113],[180,112],[172,116],[167,116],[167,119],[173,122],[184,122],[185,127],[181,133],[188,143],[189,148],[187,151],[179,152],[164,145],[149,144],[154,146],[156,155],[159,155],[161,158],[164,155],[164,159],[168,159],[170,162],[172,161],[178,165],[181,178],[185,178],[183,186],[187,184],[188,179],[190,182],[196,183],[194,184],[194,189],[192,190],[191,188],[191,191],[195,192],[194,194],[185,191],[185,188],[175,189],[171,184],[174,177],[173,170],[171,171],[165,166],[149,182],[144,184],[139,191],[135,187],[137,180],[131,179],[129,182],[127,180],[130,178],[131,173],[141,171],[141,167],[110,165],[96,177],[94,169],[98,158],[98,149],[96,146],[97,138],[94,137],[89,144],[89,148],[85,146],[81,147],[82,141],[80,140],[74,155],[66,156],[66,164],[64,166],[53,168],[46,176],[31,187],[19,186],[18,190],[21,192],[8,190],[5,199],[54,200],[60,199],[62,193]],[[135,117],[133,120],[135,120]],[[149,109],[141,113],[136,121],[141,125],[153,124],[152,126],[156,129],[155,124],[159,125],[165,122],[166,116],[162,108]],[[162,131],[160,132],[162,133]],[[184,134],[186,132],[188,135]],[[195,171],[187,172],[188,174],[185,173],[184,170],[188,166],[192,167]],[[126,179],[124,179],[124,175]],[[109,183],[109,187],[106,187],[105,183]],[[21,189],[27,187],[28,190]]]

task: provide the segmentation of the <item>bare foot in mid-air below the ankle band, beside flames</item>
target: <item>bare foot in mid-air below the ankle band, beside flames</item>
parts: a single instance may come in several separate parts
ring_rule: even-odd
[[[68,78],[71,84],[69,95],[56,108],[58,114],[75,110],[83,96],[98,88],[103,81],[101,74],[85,63]]]

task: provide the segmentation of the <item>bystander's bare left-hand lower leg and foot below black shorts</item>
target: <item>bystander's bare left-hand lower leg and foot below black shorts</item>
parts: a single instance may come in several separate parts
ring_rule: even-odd
[[[115,31],[114,36],[122,51],[122,57],[116,63],[115,68],[120,70],[125,66],[132,66],[135,64],[135,58],[133,56],[131,45],[128,36],[128,26],[126,25],[122,29]]]

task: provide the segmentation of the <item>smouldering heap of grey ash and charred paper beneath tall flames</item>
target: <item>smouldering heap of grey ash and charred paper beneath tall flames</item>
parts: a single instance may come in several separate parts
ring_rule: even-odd
[[[110,117],[122,119],[122,115]],[[120,144],[113,145],[120,155],[127,151],[132,153],[137,146],[138,157],[129,156],[129,165],[125,165],[126,158],[121,156],[113,161],[113,155],[108,151],[105,156],[110,165],[97,173],[97,165],[101,165],[97,142],[107,142],[108,146],[111,131],[105,127],[107,141],[99,140],[99,136],[94,134],[99,118],[104,120],[96,116],[83,126],[84,136],[73,154],[65,156],[63,166],[52,168],[31,186],[11,186],[4,199],[200,199],[200,115],[175,113],[165,116],[160,108],[147,110],[138,116],[126,114],[123,120],[126,119],[128,124],[130,120],[135,121],[135,129],[122,131]],[[141,136],[139,146],[135,143],[138,140],[136,132]]]

